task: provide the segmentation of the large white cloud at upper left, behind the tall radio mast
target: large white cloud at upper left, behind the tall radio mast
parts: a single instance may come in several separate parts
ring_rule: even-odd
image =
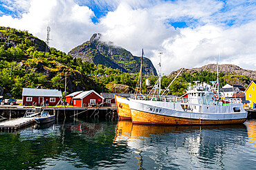
[[[53,39],[50,45],[68,52],[95,32],[91,17],[93,12],[88,7],[78,6],[72,0],[32,0],[28,12],[24,12],[20,19],[3,16],[0,17],[0,23],[28,30],[42,40],[46,40],[46,28],[49,25]]]

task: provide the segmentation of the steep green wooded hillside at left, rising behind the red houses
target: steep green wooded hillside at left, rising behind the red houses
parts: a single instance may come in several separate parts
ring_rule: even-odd
[[[64,92],[65,76],[67,94],[89,89],[109,92],[114,83],[136,85],[136,75],[82,62],[53,47],[50,52],[45,52],[46,43],[27,31],[0,27],[0,43],[0,91],[4,95],[21,98],[23,87],[61,89]]]

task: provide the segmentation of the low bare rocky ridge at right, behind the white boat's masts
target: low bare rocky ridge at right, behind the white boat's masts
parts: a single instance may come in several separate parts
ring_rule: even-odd
[[[174,77],[181,69],[174,71],[170,74],[170,77]],[[217,72],[216,64],[203,65],[202,67],[196,67],[192,69],[184,69],[183,73],[186,74],[198,74],[203,71]],[[230,84],[236,85],[248,85],[252,80],[256,80],[256,71],[244,70],[237,65],[223,64],[219,65],[219,72],[223,73],[223,80]]]

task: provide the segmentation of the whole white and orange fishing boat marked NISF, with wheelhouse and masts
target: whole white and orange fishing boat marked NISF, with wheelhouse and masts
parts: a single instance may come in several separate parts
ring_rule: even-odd
[[[160,60],[161,61],[161,60]],[[159,63],[161,66],[161,63]],[[161,69],[160,69],[161,70]],[[224,125],[244,123],[247,112],[240,99],[219,100],[219,74],[217,64],[217,90],[190,84],[187,98],[168,98],[161,93],[161,74],[155,85],[158,95],[131,96],[129,108],[135,124],[149,125]],[[170,86],[168,86],[170,87]]]

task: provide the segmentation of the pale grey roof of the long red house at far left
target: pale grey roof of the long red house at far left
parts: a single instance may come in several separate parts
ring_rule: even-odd
[[[62,97],[62,91],[57,89],[23,88],[22,96]]]

